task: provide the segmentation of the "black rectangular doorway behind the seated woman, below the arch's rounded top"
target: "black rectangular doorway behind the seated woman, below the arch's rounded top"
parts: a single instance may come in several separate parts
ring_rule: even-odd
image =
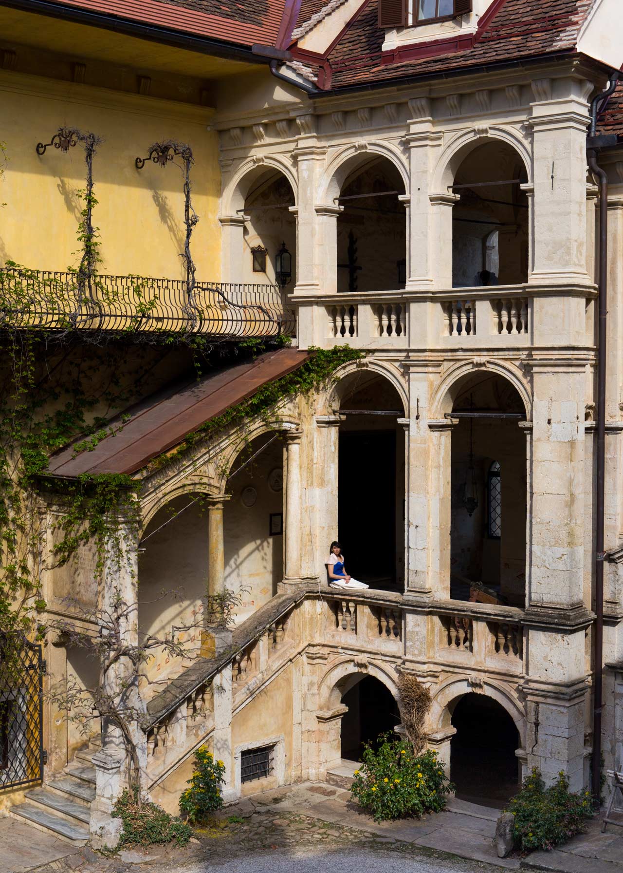
[[[371,588],[396,580],[395,470],[395,430],[340,431],[339,540],[346,570]]]

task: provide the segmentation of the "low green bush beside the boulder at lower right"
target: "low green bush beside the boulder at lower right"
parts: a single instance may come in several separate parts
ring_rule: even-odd
[[[519,849],[553,849],[584,830],[594,807],[590,792],[573,794],[565,773],[546,788],[535,767],[524,780],[521,791],[510,801],[508,811],[515,816],[513,835]]]

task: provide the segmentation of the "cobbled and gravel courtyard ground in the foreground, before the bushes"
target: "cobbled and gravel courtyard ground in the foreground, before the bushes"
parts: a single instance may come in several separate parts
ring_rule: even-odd
[[[620,828],[602,835],[600,822],[552,852],[498,859],[491,844],[496,810],[453,799],[448,810],[421,820],[374,822],[350,793],[324,783],[278,788],[222,810],[196,828],[187,846],[148,846],[102,856],[88,847],[45,866],[7,867],[0,873],[500,873],[500,868],[563,873],[623,873]],[[6,821],[6,820],[5,820]],[[49,856],[48,856],[49,857]]]

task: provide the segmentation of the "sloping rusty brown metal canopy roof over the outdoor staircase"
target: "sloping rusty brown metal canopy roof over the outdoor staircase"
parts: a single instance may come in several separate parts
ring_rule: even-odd
[[[81,473],[133,473],[153,457],[179,445],[210,418],[220,416],[255,394],[266,382],[296,370],[310,357],[309,352],[282,348],[267,352],[255,361],[229,367],[199,382],[147,397],[127,409],[130,418],[122,424],[121,416],[111,419],[111,433],[92,451],[75,454],[72,446],[52,455],[49,472],[54,476],[79,476]]]

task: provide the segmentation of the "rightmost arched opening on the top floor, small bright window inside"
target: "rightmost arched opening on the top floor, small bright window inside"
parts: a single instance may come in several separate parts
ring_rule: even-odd
[[[502,141],[469,152],[455,173],[452,285],[518,285],[528,281],[529,208],[524,162]]]

